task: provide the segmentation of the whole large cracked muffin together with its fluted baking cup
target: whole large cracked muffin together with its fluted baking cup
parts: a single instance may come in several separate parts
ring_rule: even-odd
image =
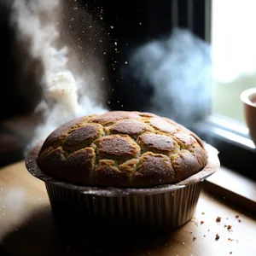
[[[61,125],[26,166],[44,180],[58,220],[65,212],[79,225],[176,228],[192,218],[201,181],[218,169],[213,149],[171,119],[112,111]]]

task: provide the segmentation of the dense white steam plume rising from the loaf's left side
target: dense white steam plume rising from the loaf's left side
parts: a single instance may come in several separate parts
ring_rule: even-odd
[[[64,1],[63,1],[64,2]],[[33,57],[42,61],[41,84],[44,100],[37,110],[44,110],[44,123],[35,131],[33,143],[44,140],[59,125],[75,117],[103,113],[99,102],[92,102],[86,91],[86,80],[75,77],[67,67],[67,46],[60,47],[59,0],[15,0],[12,20],[21,39],[29,39]],[[79,63],[77,63],[79,65]]]

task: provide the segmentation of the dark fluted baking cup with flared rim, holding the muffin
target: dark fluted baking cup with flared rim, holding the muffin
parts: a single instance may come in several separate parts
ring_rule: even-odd
[[[74,229],[177,229],[193,217],[201,183],[220,165],[218,151],[205,144],[207,166],[180,183],[148,189],[102,189],[62,182],[41,171],[37,164],[40,146],[27,155],[26,168],[44,181],[57,222]]]

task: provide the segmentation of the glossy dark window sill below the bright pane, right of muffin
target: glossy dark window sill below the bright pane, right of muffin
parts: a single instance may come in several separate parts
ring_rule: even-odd
[[[256,149],[246,132],[246,126],[212,113],[206,119],[195,123],[191,131],[218,149],[222,166],[256,181]]]

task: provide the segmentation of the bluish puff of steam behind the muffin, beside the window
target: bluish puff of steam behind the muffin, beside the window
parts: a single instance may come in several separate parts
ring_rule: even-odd
[[[130,75],[154,93],[145,110],[190,127],[208,113],[211,99],[210,45],[191,32],[176,29],[136,49],[129,60]],[[127,75],[127,73],[124,73]]]

